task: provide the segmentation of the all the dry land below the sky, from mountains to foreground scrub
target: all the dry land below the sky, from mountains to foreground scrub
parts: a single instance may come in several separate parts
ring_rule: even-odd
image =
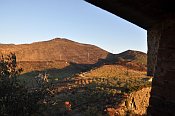
[[[148,81],[151,77],[146,76],[145,53],[128,50],[111,54],[98,47],[66,39],[18,46],[1,44],[0,51],[16,52],[17,56],[17,60],[13,55],[13,58],[9,56],[0,60],[3,72],[0,85],[8,89],[4,91],[1,88],[4,92],[0,94],[2,115],[112,116],[145,113],[151,86]],[[19,67],[23,72],[15,72]],[[11,79],[14,85],[7,84],[13,82]],[[134,96],[138,97],[135,99]],[[140,96],[145,96],[145,100]],[[20,107],[10,107],[18,102]],[[143,109],[140,104],[144,104]]]

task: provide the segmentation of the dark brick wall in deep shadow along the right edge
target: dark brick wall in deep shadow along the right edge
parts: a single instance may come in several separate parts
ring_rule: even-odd
[[[148,113],[152,116],[175,116],[175,20],[166,20],[161,25]]]

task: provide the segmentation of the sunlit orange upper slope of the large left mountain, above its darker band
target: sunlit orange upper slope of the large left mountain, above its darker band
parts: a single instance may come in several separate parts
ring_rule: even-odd
[[[93,64],[109,54],[99,47],[56,38],[32,44],[1,44],[0,53],[13,52],[18,61],[58,61]]]

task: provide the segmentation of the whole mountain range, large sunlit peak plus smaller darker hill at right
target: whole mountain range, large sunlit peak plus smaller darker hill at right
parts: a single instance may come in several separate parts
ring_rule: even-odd
[[[31,44],[0,44],[0,54],[10,52],[16,54],[18,66],[23,68],[23,73],[36,76],[44,71],[59,77],[72,76],[106,64],[145,70],[147,57],[145,53],[132,50],[112,54],[94,45],[61,38]],[[125,62],[128,60],[132,62]]]

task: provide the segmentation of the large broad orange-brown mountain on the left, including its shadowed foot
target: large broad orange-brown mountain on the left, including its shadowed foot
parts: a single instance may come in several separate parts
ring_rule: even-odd
[[[10,52],[16,54],[18,66],[23,68],[23,73],[49,69],[52,73],[67,74],[87,70],[98,60],[105,59],[111,54],[94,45],[61,38],[32,44],[0,44],[0,54]]]

